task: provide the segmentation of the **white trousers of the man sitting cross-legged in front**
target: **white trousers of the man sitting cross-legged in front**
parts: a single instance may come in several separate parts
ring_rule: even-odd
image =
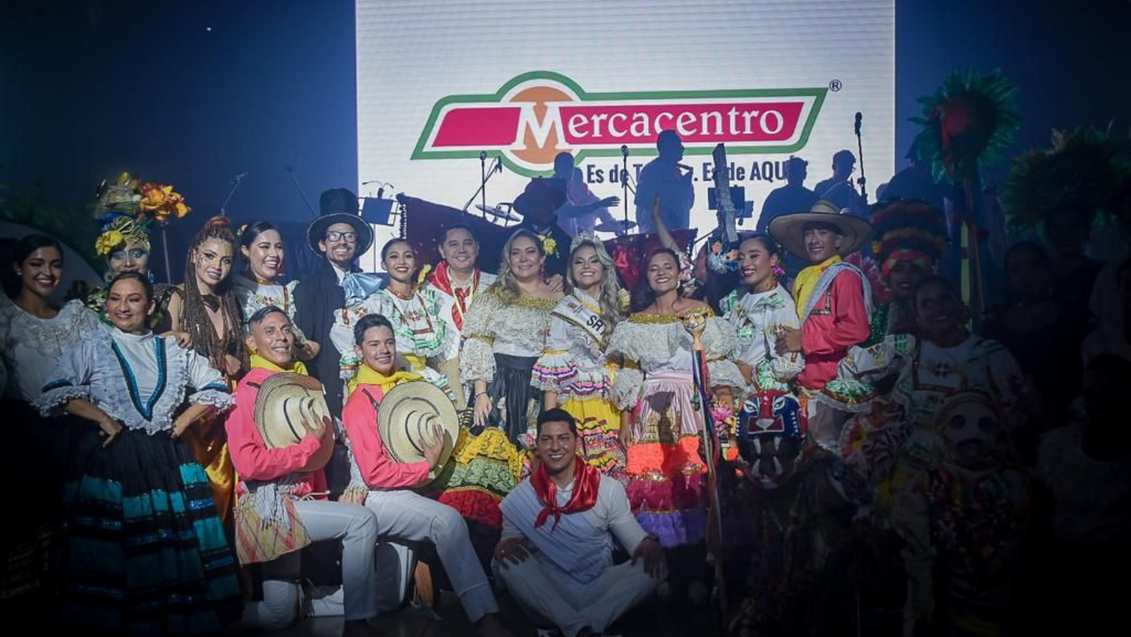
[[[611,566],[588,584],[573,579],[537,553],[521,563],[507,562],[506,567],[497,560],[491,568],[530,621],[555,626],[567,637],[585,627],[604,632],[661,583],[645,573],[644,560]]]

